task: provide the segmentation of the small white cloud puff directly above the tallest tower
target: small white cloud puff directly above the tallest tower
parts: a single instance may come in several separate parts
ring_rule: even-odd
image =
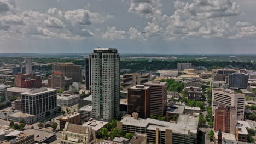
[[[117,30],[115,27],[109,27],[108,30],[102,35],[102,39],[125,39],[126,38],[126,32]]]

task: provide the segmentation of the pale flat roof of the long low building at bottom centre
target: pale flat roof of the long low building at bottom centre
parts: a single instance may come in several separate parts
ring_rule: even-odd
[[[159,121],[156,119],[134,119],[133,117],[125,117],[120,122],[123,125],[132,125],[136,127],[146,127],[148,130],[155,130],[159,128],[160,131],[166,129],[173,130],[173,133],[188,134],[188,131],[197,133],[199,118],[191,115],[179,115],[177,123],[171,123],[166,121]]]

